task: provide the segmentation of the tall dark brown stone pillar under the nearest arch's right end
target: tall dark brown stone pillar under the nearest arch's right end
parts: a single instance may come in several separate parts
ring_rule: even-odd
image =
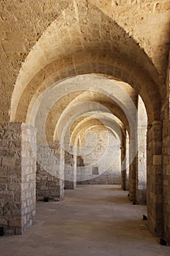
[[[162,122],[147,129],[147,215],[150,231],[163,234]]]

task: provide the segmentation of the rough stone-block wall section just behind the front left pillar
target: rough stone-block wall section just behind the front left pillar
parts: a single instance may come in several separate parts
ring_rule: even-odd
[[[37,148],[36,200],[63,200],[60,150],[58,143]]]

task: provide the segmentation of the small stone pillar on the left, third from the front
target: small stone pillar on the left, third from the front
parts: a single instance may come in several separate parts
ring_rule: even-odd
[[[74,155],[64,152],[64,188],[75,189],[77,185],[77,166],[74,163]]]

